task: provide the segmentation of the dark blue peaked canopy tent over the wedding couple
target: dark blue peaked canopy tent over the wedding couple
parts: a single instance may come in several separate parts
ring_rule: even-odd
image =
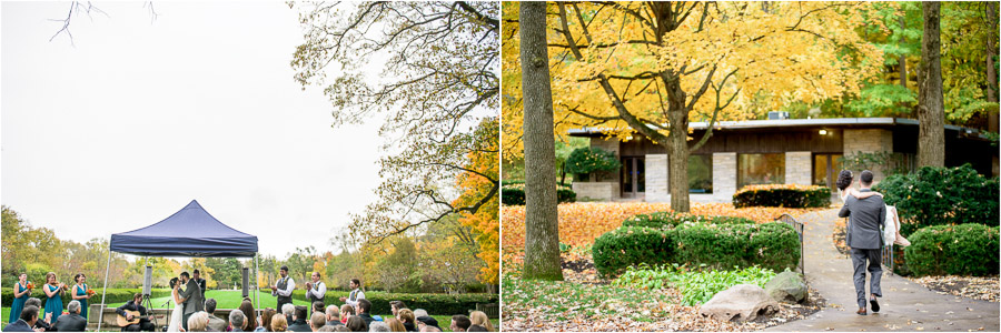
[[[205,211],[198,201],[191,200],[180,211],[163,221],[133,231],[111,235],[108,268],[105,271],[105,290],[111,270],[111,252],[141,256],[186,258],[255,258],[257,236],[229,228]],[[255,264],[256,265],[256,264]],[[257,280],[257,269],[254,271]],[[257,301],[257,289],[254,299]],[[101,304],[105,295],[101,295]],[[257,301],[258,307],[260,302]],[[103,323],[103,311],[98,330]]]

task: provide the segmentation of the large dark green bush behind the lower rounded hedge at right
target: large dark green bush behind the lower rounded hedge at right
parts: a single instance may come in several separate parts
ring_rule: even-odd
[[[984,178],[969,164],[958,168],[924,167],[912,174],[894,174],[873,190],[884,194],[900,214],[900,233],[909,235],[929,225],[999,221],[998,178]]]

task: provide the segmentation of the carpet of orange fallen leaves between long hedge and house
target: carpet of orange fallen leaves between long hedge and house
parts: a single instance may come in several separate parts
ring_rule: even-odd
[[[558,205],[559,242],[576,251],[565,254],[571,261],[589,259],[591,244],[597,236],[617,229],[622,221],[635,214],[671,211],[670,203],[646,202],[576,202]],[[735,209],[732,203],[692,203],[691,213],[696,215],[741,216],[757,223],[774,221],[782,214],[799,218],[801,214],[822,209],[744,208]],[[504,231],[505,266],[519,264],[525,251],[525,206],[503,206],[500,223]]]

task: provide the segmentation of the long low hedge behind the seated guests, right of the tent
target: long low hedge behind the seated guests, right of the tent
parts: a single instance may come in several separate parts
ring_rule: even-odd
[[[327,291],[324,295],[324,304],[344,304],[340,297],[347,297],[350,292]],[[305,290],[293,291],[294,300],[306,301]],[[393,313],[389,301],[403,301],[409,309],[424,309],[432,314],[452,315],[469,314],[469,310],[476,310],[477,303],[498,303],[497,294],[398,294],[368,291],[365,299],[371,302],[371,313]]]

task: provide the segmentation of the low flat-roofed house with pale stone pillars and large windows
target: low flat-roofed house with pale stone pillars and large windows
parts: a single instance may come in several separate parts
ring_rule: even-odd
[[[706,122],[692,122],[696,140]],[[833,188],[842,170],[840,158],[858,152],[891,152],[898,165],[913,170],[918,121],[903,118],[777,119],[717,122],[713,137],[691,154],[688,185],[693,201],[729,202],[750,184],[819,184]],[[945,165],[970,163],[985,175],[998,175],[999,149],[975,129],[945,125]],[[578,129],[572,137],[591,138],[591,147],[615,152],[622,170],[575,181],[578,198],[593,200],[670,201],[667,151],[641,134],[628,141],[606,139],[602,129]],[[875,181],[884,178],[874,168]],[[856,170],[858,172],[858,170]]]

